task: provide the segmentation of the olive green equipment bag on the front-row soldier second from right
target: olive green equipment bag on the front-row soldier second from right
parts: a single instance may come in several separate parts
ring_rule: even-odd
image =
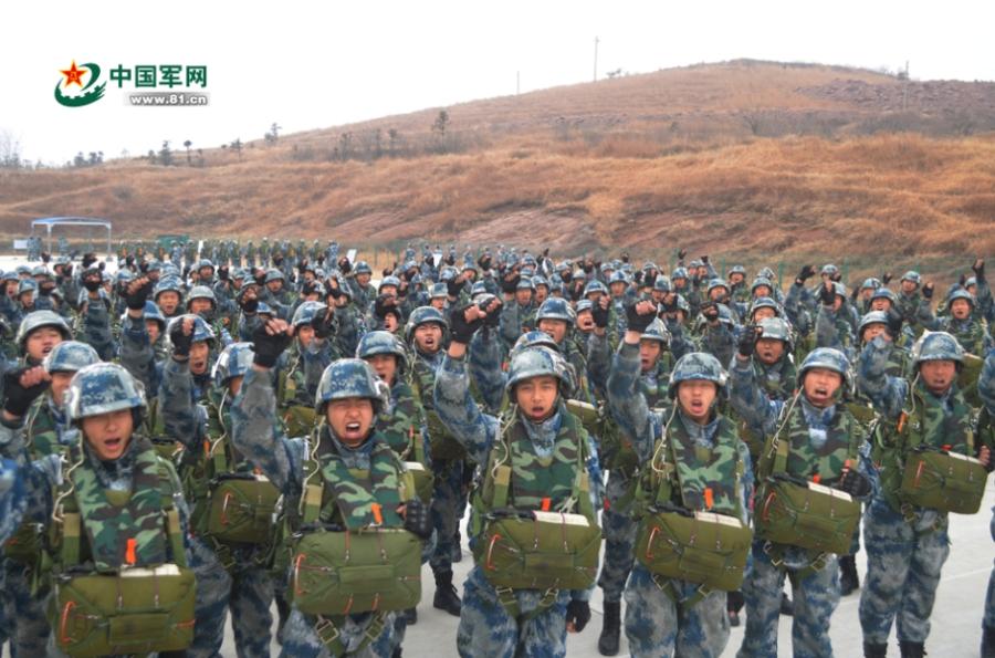
[[[788,441],[774,439],[774,469],[756,490],[756,536],[775,544],[846,555],[860,523],[860,501],[787,473]],[[857,456],[851,461],[856,463]]]

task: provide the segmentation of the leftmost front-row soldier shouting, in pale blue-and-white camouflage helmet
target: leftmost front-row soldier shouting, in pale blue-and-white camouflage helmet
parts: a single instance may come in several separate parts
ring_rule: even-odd
[[[135,431],[145,408],[140,387],[113,364],[77,372],[65,396],[80,439],[65,455],[49,456],[31,468],[21,424],[46,377],[35,368],[9,383],[0,450],[21,464],[29,492],[27,518],[54,520],[48,523],[46,544],[53,629],[48,655],[111,655],[124,647],[138,654],[187,649],[193,620],[202,612],[196,602],[198,556],[186,544],[188,513],[176,472]],[[127,513],[118,512],[122,506]],[[80,606],[80,600],[92,603]],[[153,607],[159,613],[147,615]],[[140,631],[122,637],[109,630],[121,625]]]

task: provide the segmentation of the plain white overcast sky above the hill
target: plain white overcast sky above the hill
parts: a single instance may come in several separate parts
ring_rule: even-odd
[[[995,2],[277,3],[7,2],[0,21],[0,130],[50,164],[76,152],[140,155],[285,133],[736,58],[897,70],[919,80],[995,80]],[[82,108],[53,98],[59,71],[96,62],[206,64],[208,107],[129,107],[108,84]]]

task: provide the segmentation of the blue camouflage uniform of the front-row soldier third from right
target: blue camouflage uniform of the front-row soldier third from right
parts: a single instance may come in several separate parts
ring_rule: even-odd
[[[640,385],[639,346],[624,343],[616,353],[611,374],[607,384],[608,400],[611,415],[616,418],[621,431],[631,437],[632,447],[640,463],[646,463],[652,456],[653,448],[661,440],[671,416],[671,408],[652,410]],[[670,400],[666,400],[670,403]],[[669,405],[668,405],[669,406]],[[711,450],[715,445],[715,432],[720,418],[713,418],[709,425],[701,427],[684,421],[682,414],[677,414],[674,422],[681,422],[693,437],[695,445]],[[753,490],[753,474],[750,466],[750,451],[737,441],[736,452],[743,464],[742,487],[736,492],[740,497],[742,521],[746,522],[746,501]],[[609,489],[610,489],[609,479]],[[635,535],[635,524],[633,524]],[[632,549],[629,544],[628,560],[632,565]],[[606,567],[608,563],[606,561]],[[601,579],[605,579],[603,573]],[[694,596],[699,586],[684,581],[668,579],[673,592],[681,600]],[[599,581],[600,584],[600,581]],[[608,591],[606,589],[606,599]],[[730,626],[725,614],[725,592],[711,592],[693,605],[675,603],[664,593],[653,574],[641,563],[631,566],[631,575],[625,589],[626,598],[626,637],[632,656],[689,656],[718,657],[729,643]]]

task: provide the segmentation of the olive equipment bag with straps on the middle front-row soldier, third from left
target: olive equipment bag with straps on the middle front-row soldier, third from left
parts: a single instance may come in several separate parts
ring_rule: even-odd
[[[514,418],[514,410],[509,418]],[[568,418],[577,422],[573,416]],[[502,435],[506,435],[504,429]],[[511,464],[488,464],[485,478],[490,482],[480,489],[493,493],[488,505],[480,489],[474,492],[471,534],[478,536],[473,545],[475,563],[499,595],[510,589],[586,589],[594,584],[601,530],[590,502],[583,431],[580,437],[570,491],[579,514],[515,509],[509,504]],[[506,440],[499,437],[495,442],[504,447],[505,455],[511,455]]]

